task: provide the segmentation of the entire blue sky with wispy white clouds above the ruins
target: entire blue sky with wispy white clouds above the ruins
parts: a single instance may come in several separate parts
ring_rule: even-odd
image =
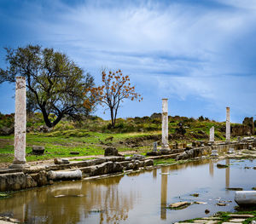
[[[122,69],[144,100],[118,117],[160,112],[161,98],[172,116],[256,114],[256,0],[0,0],[0,33],[2,68],[4,47],[31,43],[66,53],[96,83],[102,68]],[[15,111],[13,88],[0,85],[0,112]]]

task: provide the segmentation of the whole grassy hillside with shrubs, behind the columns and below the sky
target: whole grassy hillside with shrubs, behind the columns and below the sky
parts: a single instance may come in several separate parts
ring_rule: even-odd
[[[11,129],[14,115],[1,115],[0,129]],[[181,126],[182,125],[182,128]],[[241,124],[232,123],[232,127]],[[224,140],[225,123],[210,121],[207,118],[169,117],[169,143],[207,140],[209,129],[215,127],[215,139]],[[181,131],[182,130],[182,131]],[[184,133],[185,132],[185,133]],[[55,157],[71,157],[69,152],[79,152],[79,156],[103,154],[104,148],[115,146],[119,151],[147,152],[154,141],[160,146],[160,114],[151,117],[126,118],[117,120],[115,129],[109,121],[90,117],[80,122],[63,119],[54,129],[44,127],[40,113],[27,120],[26,153],[27,161]],[[0,162],[11,162],[14,155],[14,135],[0,136]],[[32,145],[45,146],[43,156],[32,155]]]

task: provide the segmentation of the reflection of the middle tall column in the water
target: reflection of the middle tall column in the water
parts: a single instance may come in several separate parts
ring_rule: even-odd
[[[168,167],[163,166],[161,173],[168,173]],[[168,175],[161,175],[161,212],[160,217],[166,220],[166,202],[167,202],[167,178]]]

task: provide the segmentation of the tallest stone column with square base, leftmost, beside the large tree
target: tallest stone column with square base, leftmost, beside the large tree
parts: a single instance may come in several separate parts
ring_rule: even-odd
[[[15,159],[9,168],[20,169],[26,164],[26,78],[16,77],[15,89]]]

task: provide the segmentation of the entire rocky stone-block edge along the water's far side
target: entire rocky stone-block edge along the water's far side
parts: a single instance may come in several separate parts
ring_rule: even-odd
[[[207,146],[205,146],[207,145]],[[256,138],[246,138],[241,142],[220,142],[209,144],[203,141],[192,143],[192,146],[172,149],[170,152],[156,153],[155,156],[145,158],[141,155],[125,158],[124,156],[107,156],[84,161],[66,161],[56,159],[55,164],[35,165],[24,169],[0,169],[0,192],[19,191],[32,187],[42,187],[53,184],[54,181],[76,180],[101,175],[112,175],[122,173],[125,170],[140,170],[154,166],[154,159],[175,158],[177,161],[188,161],[194,158],[256,158]],[[232,154],[225,154],[233,149]],[[212,150],[219,153],[219,156],[212,156]],[[79,178],[70,175],[68,172],[80,170]],[[66,172],[65,178],[52,178],[52,172]]]

